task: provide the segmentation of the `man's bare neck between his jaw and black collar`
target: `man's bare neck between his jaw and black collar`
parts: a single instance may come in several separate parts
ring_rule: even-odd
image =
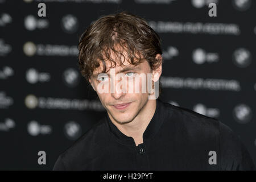
[[[133,137],[136,146],[143,143],[143,133],[150,123],[156,109],[156,100],[148,100],[137,117],[129,123],[123,125],[113,122],[113,118],[110,117],[115,126],[126,136]]]

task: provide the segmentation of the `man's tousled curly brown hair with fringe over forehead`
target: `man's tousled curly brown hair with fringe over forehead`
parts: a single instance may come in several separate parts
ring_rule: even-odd
[[[108,72],[105,61],[111,61],[111,68],[117,62],[122,64],[125,61],[123,51],[129,63],[137,65],[146,59],[151,69],[156,69],[162,64],[155,59],[156,54],[162,55],[160,42],[159,35],[148,26],[145,19],[137,15],[122,11],[102,16],[90,24],[80,37],[78,48],[81,75],[88,81],[94,69],[100,67],[100,61],[104,66],[103,72]],[[110,57],[111,53],[114,53],[117,60]]]

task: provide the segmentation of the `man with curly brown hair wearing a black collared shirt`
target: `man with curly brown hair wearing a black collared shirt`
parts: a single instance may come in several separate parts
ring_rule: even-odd
[[[224,123],[159,100],[161,55],[159,36],[136,15],[103,16],[86,29],[79,68],[106,117],[63,152],[53,170],[254,169]]]

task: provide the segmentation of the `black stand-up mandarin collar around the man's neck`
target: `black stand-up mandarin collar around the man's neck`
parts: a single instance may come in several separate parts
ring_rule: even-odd
[[[163,109],[163,102],[159,100],[159,98],[156,100],[156,109],[155,113],[151,119],[151,121],[148,123],[146,130],[143,133],[143,144],[146,144],[154,137],[154,135],[159,131],[160,127],[162,126],[162,123],[164,121],[164,109]],[[112,133],[115,137],[115,139],[118,140],[118,142],[122,144],[126,144],[129,146],[135,146],[135,141],[133,137],[128,137],[127,135],[123,134],[117,126],[115,126],[112,121],[109,118],[108,113],[106,113],[106,120],[108,122],[108,126],[110,129],[110,133]]]

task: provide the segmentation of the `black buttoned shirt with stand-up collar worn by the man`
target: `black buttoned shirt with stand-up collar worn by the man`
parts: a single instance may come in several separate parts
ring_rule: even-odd
[[[253,170],[240,138],[224,123],[156,100],[135,145],[108,114],[57,159],[53,170]]]

